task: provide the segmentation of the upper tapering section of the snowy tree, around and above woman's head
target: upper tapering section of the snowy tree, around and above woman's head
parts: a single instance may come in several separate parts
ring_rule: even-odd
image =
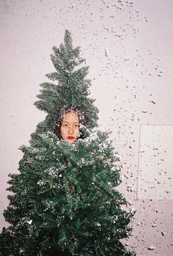
[[[91,81],[86,78],[89,67],[77,68],[85,61],[80,54],[80,48],[73,48],[70,32],[65,32],[65,43],[59,48],[53,47],[54,54],[51,60],[56,72],[46,74],[51,81],[58,81],[58,84],[45,82],[40,84],[43,89],[37,95],[40,100],[34,103],[38,109],[48,113],[45,121],[41,122],[38,128],[43,131],[54,130],[56,114],[62,105],[69,106],[74,103],[85,111],[88,120],[88,128],[97,127],[98,109],[93,105],[95,100],[89,98],[89,86]]]

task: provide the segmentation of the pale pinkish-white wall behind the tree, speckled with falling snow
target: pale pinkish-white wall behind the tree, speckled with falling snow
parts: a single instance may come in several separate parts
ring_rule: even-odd
[[[90,66],[100,128],[111,129],[121,156],[119,190],[137,210],[128,248],[173,255],[172,15],[172,0],[0,1],[1,227],[7,175],[45,117],[33,103],[45,73],[54,71],[51,48],[69,29]]]

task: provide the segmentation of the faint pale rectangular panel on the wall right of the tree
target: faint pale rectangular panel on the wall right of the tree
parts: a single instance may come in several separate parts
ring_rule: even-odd
[[[140,125],[137,199],[173,199],[173,125]]]

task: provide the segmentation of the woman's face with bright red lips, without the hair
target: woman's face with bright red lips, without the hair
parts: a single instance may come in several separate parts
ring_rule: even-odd
[[[75,111],[70,110],[65,114],[65,117],[62,120],[61,126],[61,136],[62,139],[69,142],[70,144],[74,143],[79,136],[79,120],[78,114]]]

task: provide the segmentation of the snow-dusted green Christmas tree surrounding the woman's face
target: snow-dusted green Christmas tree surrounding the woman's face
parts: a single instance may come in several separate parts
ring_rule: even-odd
[[[46,76],[34,104],[47,113],[22,146],[19,173],[10,174],[10,205],[4,217],[10,227],[0,235],[1,256],[122,256],[120,239],[131,233],[134,211],[115,189],[121,183],[119,158],[108,132],[97,127],[95,100],[89,98],[88,67],[80,48],[73,48],[69,31],[64,44],[54,47],[56,72]],[[78,106],[85,114],[81,136],[68,143],[58,136],[57,113],[62,106]]]

